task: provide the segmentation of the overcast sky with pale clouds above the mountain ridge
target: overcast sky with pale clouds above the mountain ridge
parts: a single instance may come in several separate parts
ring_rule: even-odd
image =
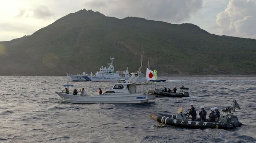
[[[193,23],[212,34],[256,39],[256,0],[1,0],[0,41],[31,35],[84,8],[119,19]]]

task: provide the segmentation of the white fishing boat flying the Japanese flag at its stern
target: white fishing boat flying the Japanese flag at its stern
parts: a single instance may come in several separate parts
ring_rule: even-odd
[[[73,95],[64,92],[56,92],[62,100],[70,103],[145,103],[155,98],[154,94],[145,89],[137,92],[136,80],[138,77],[131,76],[130,79],[119,79],[113,88],[106,90],[102,95]]]

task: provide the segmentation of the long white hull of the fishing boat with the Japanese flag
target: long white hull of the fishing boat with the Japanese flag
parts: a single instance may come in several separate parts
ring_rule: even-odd
[[[153,94],[129,94],[129,95],[72,95],[61,92],[56,92],[62,100],[69,103],[146,103],[155,98]]]

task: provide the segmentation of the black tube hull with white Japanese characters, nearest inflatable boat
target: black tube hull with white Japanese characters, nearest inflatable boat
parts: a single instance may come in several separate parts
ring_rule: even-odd
[[[176,115],[166,115],[160,113],[150,113],[150,118],[157,121],[160,124],[175,126],[181,128],[191,128],[191,129],[205,129],[205,128],[218,128],[218,129],[233,129],[231,123],[222,122],[200,122],[200,121],[188,121],[188,120],[178,120]]]

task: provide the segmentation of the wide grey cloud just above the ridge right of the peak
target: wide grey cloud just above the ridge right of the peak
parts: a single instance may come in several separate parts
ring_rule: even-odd
[[[203,0],[90,0],[85,6],[105,15],[182,22],[202,8]]]

